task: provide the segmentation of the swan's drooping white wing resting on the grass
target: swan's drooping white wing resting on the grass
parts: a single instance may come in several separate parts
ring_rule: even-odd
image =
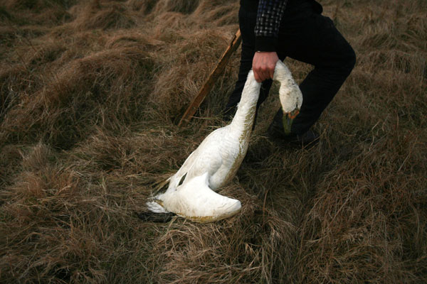
[[[167,211],[199,223],[231,217],[242,207],[240,201],[211,190],[208,186],[207,173],[187,181],[163,201],[164,209]]]

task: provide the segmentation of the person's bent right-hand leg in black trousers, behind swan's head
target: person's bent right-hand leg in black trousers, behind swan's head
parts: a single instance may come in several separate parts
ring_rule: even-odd
[[[319,119],[354,67],[356,56],[330,18],[312,11],[303,21],[285,19],[280,27],[280,52],[315,68],[300,84],[303,96],[292,133],[302,134]],[[273,124],[282,124],[279,110]]]

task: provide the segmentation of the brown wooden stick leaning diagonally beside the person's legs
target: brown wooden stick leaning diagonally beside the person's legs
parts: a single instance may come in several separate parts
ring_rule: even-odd
[[[196,113],[196,110],[200,107],[201,103],[204,101],[206,96],[211,92],[212,87],[214,87],[214,84],[216,80],[218,79],[219,75],[223,72],[225,69],[228,60],[230,59],[233,52],[238,48],[238,45],[241,43],[241,33],[240,30],[236,32],[236,35],[234,35],[233,39],[231,40],[231,43],[228,45],[228,48],[221,56],[221,59],[218,61],[218,64],[212,70],[209,77],[204,82],[203,86],[201,87],[199,94],[197,94],[196,97],[194,97],[193,101],[189,105],[189,107],[186,109],[184,115],[182,116],[181,120],[179,121],[178,126],[187,124],[191,117]]]

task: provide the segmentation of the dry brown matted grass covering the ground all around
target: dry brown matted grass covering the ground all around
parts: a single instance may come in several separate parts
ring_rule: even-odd
[[[1,283],[426,283],[427,4],[321,1],[357,65],[315,126],[265,135],[214,224],[145,223],[155,182],[221,121],[238,53],[189,126],[238,28],[238,1],[0,4]],[[312,67],[286,60],[300,82]]]

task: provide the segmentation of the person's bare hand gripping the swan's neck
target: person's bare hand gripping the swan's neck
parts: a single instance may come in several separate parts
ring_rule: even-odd
[[[278,54],[273,52],[257,52],[253,55],[252,70],[255,80],[263,82],[273,79],[275,64],[278,62]]]

